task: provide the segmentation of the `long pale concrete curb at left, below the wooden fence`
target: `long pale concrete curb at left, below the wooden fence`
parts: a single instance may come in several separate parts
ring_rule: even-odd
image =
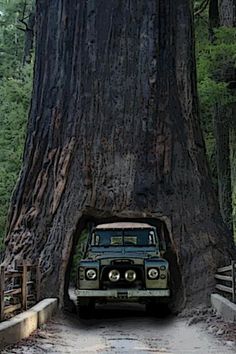
[[[32,332],[50,320],[57,307],[57,299],[45,299],[30,310],[0,323],[0,348],[29,337]]]

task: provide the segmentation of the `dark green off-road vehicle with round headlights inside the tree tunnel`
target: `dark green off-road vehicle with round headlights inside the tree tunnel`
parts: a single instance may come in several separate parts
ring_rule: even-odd
[[[149,224],[95,227],[78,269],[79,315],[89,316],[96,302],[168,300],[169,264],[161,257],[159,243],[156,228]]]

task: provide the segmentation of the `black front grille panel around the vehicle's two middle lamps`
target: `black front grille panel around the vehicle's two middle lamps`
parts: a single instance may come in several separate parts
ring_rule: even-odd
[[[120,279],[117,282],[111,282],[108,274],[111,270],[116,269],[120,272]],[[129,282],[125,279],[125,272],[127,270],[134,270],[136,273],[136,280]],[[141,265],[129,265],[129,264],[116,264],[104,266],[101,269],[101,287],[102,289],[115,289],[115,288],[135,288],[143,289],[145,285],[144,281],[144,269]]]

